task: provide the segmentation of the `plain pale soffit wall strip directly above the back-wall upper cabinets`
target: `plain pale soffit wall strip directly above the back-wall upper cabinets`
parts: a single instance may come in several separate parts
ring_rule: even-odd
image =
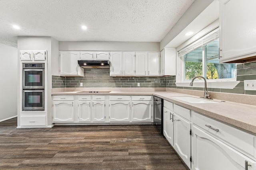
[[[160,51],[158,42],[60,41],[60,50],[74,51]]]

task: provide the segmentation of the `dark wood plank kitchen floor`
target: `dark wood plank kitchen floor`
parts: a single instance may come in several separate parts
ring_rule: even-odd
[[[159,126],[16,126],[0,122],[1,170],[188,170]]]

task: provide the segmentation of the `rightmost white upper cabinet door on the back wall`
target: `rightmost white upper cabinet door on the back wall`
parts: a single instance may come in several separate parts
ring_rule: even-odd
[[[160,59],[158,52],[148,53],[148,75],[149,76],[159,76]]]

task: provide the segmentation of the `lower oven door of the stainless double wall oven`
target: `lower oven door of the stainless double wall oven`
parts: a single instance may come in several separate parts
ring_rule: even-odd
[[[44,90],[23,90],[22,111],[44,110]]]

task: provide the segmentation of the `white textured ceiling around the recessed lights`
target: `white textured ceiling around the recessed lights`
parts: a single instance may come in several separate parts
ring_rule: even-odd
[[[0,0],[0,43],[17,47],[17,36],[50,36],[58,41],[160,42],[193,2]],[[88,29],[82,30],[82,25]]]

